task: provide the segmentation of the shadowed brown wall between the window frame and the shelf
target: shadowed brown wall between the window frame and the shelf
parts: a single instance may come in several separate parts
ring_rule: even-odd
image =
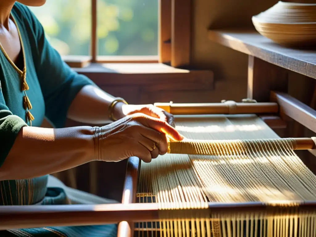
[[[193,1],[193,36],[191,64],[199,69],[214,72],[214,90],[210,93],[211,102],[220,100],[240,101],[247,93],[246,54],[236,52],[225,46],[212,43],[207,38],[208,29],[253,28],[251,17],[274,4],[277,0],[192,0]],[[315,0],[291,0],[287,2],[316,3]],[[307,98],[305,88],[313,81],[290,72],[289,91],[300,100]],[[307,86],[307,87],[306,87]],[[301,88],[298,90],[297,88]]]

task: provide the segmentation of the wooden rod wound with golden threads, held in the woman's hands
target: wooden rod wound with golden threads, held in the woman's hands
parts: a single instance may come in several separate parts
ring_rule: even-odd
[[[188,155],[231,155],[236,142],[240,143],[239,150],[242,152],[246,147],[251,146],[254,150],[263,148],[277,149],[287,141],[293,150],[315,149],[316,145],[312,138],[278,138],[278,139],[255,139],[255,140],[184,140],[180,142],[169,142],[168,153]],[[282,143],[281,143],[282,142]],[[262,146],[258,146],[257,144]],[[230,149],[225,149],[229,147]]]

